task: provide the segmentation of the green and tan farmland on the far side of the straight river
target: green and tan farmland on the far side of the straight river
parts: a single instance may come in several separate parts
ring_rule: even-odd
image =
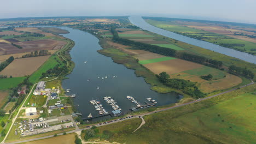
[[[218,24],[211,23],[189,23],[187,21],[156,21],[146,19],[150,25],[166,29],[167,31],[186,35],[188,37],[201,39],[210,43],[218,44],[231,49],[236,49],[243,52],[255,53],[253,50],[256,44],[255,38],[249,38],[247,34],[255,35],[256,33],[241,30],[241,28],[227,28]],[[195,25],[196,24],[196,25]],[[255,31],[256,29],[254,29]],[[234,34],[236,33],[236,34]]]

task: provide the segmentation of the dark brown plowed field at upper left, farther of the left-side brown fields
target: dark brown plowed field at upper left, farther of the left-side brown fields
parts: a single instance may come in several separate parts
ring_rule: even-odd
[[[0,55],[10,55],[14,53],[24,53],[39,50],[57,50],[61,49],[66,41],[44,39],[44,40],[33,40],[33,41],[22,41],[15,43],[22,46],[22,49],[15,47],[11,44],[0,44]]]

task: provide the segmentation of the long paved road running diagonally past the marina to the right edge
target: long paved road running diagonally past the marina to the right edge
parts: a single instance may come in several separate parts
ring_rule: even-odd
[[[241,87],[239,87],[239,88],[247,87],[247,86],[250,86],[250,85],[253,85],[253,84],[255,84],[255,83],[254,83],[254,82],[251,82],[251,83],[249,83],[248,85],[241,86]],[[165,109],[161,109],[161,110],[156,110],[156,111],[152,111],[152,112],[148,112],[148,113],[143,113],[143,114],[141,114],[141,115],[137,115],[137,116],[130,117],[130,118],[125,118],[125,119],[120,119],[120,118],[119,118],[120,120],[118,120],[118,121],[114,121],[114,120],[115,120],[115,119],[114,119],[114,120],[113,120],[114,122],[110,122],[110,123],[101,123],[101,125],[100,125],[100,123],[97,123],[97,124],[92,124],[92,125],[95,125],[96,127],[101,127],[101,126],[103,126],[103,125],[108,125],[108,124],[118,123],[118,122],[121,122],[121,121],[126,121],[127,119],[140,118],[140,117],[143,117],[143,116],[146,116],[146,115],[151,115],[151,114],[156,113],[156,112],[171,110],[171,109],[175,109],[175,108],[177,108],[177,107],[181,107],[181,106],[184,106],[184,105],[189,105],[189,104],[193,104],[193,103],[198,103],[198,102],[200,102],[200,101],[202,101],[202,100],[211,99],[211,98],[213,98],[213,97],[217,97],[218,95],[222,95],[222,94],[225,94],[225,93],[229,93],[229,92],[235,91],[236,89],[238,89],[238,88],[233,88],[233,89],[230,89],[229,91],[225,91],[225,92],[222,92],[222,93],[219,93],[219,94],[215,94],[215,95],[212,95],[212,96],[210,96],[210,97],[206,97],[206,98],[202,98],[202,99],[197,99],[197,100],[190,101],[190,102],[188,102],[188,103],[184,103],[184,104],[180,104],[180,105],[175,105],[175,106],[171,106],[171,107],[166,107]],[[89,125],[89,126],[91,127],[92,125]],[[90,128],[84,128],[84,129],[90,129]],[[75,133],[75,132],[77,132],[77,131],[84,130],[84,129],[78,129],[77,126],[76,126],[76,129],[75,129],[75,130],[68,131],[68,132],[66,132],[66,133],[67,133],[67,134],[69,134],[69,133]],[[9,130],[9,131],[10,131],[10,130]],[[9,131],[8,131],[8,132],[9,132]],[[57,135],[63,135],[63,133],[57,134]],[[46,139],[46,138],[53,137],[53,136],[54,136],[54,135],[43,136],[43,137],[38,137],[38,138],[34,138],[34,139],[29,139],[29,140],[10,142],[10,143],[8,143],[8,144],[15,144],[15,143],[21,143],[21,142],[29,142],[29,141],[35,141],[35,140],[42,140],[42,139]],[[5,137],[7,137],[7,136],[5,136]],[[4,139],[4,140],[5,140],[5,139]]]

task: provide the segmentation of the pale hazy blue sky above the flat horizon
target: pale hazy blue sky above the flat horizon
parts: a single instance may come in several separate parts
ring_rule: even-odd
[[[158,16],[256,24],[256,0],[8,0],[0,19],[44,16]]]

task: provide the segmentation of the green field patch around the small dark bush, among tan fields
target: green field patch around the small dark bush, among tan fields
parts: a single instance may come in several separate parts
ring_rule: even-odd
[[[190,75],[197,75],[197,76],[211,74],[213,76],[213,79],[223,79],[223,77],[226,75],[226,72],[223,70],[218,70],[218,69],[214,69],[207,66],[186,70],[186,71],[183,71],[183,73],[187,73]]]

